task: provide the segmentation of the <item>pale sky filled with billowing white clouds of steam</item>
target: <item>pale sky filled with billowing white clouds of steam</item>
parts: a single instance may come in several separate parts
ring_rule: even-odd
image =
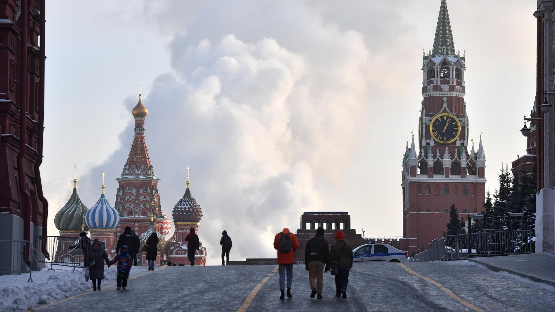
[[[526,153],[536,1],[449,0],[466,50],[470,137],[487,188]],[[433,1],[49,1],[43,187],[52,222],[72,190],[115,202],[143,83],[146,138],[165,212],[185,189],[203,209],[209,264],[274,256],[306,211],[346,211],[358,233],[402,234],[401,160],[417,130]],[[418,143],[418,142],[417,142]]]

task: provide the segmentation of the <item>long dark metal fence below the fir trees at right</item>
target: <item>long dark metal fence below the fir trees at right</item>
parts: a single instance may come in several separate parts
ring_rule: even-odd
[[[533,241],[527,230],[482,230],[480,233],[447,235],[445,259],[459,260],[478,256],[527,254]]]

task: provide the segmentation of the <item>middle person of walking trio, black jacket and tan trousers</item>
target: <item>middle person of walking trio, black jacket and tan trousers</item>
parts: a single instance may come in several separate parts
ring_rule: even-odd
[[[324,239],[324,228],[319,227],[316,235],[306,243],[305,268],[309,271],[309,283],[312,293],[310,298],[318,294],[317,299],[322,299],[322,274],[327,272],[327,263],[330,258],[330,247]]]

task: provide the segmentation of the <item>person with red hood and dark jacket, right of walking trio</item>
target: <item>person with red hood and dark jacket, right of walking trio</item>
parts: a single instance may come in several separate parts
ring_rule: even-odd
[[[331,245],[330,262],[328,264],[335,273],[335,296],[347,298],[347,283],[349,283],[349,270],[352,268],[352,247],[345,240],[342,230],[335,234],[335,243]]]

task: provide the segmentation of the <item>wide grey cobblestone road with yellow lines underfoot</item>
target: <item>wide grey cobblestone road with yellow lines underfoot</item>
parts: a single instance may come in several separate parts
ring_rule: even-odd
[[[425,276],[473,304],[478,311],[553,311],[555,287],[468,261],[410,263]],[[246,311],[472,311],[438,284],[395,263],[357,263],[351,270],[347,299],[335,297],[333,276],[324,275],[324,299],[310,299],[304,265],[294,266],[294,298],[279,300],[274,265],[171,266],[157,268],[115,286],[69,299],[41,311],[237,311],[256,285],[267,280]],[[108,286],[108,285],[106,285]],[[90,307],[90,309],[88,309]],[[475,310],[476,310],[475,309]]]

